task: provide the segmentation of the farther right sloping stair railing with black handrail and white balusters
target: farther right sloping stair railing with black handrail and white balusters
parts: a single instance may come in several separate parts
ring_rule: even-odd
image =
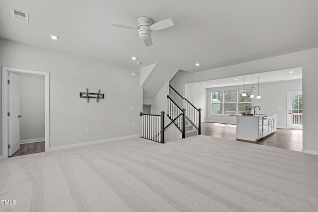
[[[198,135],[201,135],[201,108],[196,108],[191,102],[178,93],[171,85],[169,87],[174,91],[183,101],[183,108],[185,109],[185,118],[198,130]]]

